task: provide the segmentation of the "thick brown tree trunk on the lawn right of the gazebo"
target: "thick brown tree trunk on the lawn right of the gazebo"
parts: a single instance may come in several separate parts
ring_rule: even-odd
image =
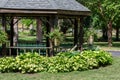
[[[112,46],[112,21],[108,22],[108,46]]]

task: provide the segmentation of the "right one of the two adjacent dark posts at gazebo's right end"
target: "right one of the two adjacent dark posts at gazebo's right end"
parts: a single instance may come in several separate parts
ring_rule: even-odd
[[[84,20],[84,17],[81,16],[80,17],[80,27],[79,27],[79,50],[83,50],[83,20]]]

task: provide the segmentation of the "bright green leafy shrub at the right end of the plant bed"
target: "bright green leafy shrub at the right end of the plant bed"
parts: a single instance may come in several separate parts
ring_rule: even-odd
[[[82,56],[87,57],[89,61],[89,67],[98,68],[100,66],[112,64],[112,56],[106,51],[83,51]]]

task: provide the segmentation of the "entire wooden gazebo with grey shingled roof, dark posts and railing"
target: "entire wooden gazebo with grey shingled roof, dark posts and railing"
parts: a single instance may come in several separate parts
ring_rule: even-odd
[[[42,53],[41,51],[45,50],[43,54],[53,56],[56,48],[50,38],[46,37],[44,43],[42,40],[43,25],[46,28],[45,34],[49,34],[59,26],[61,20],[67,19],[72,22],[72,47],[82,50],[83,21],[87,16],[90,16],[90,10],[76,0],[0,0],[1,30],[9,35],[9,45],[2,44],[1,54],[18,55],[20,50],[37,50]],[[36,20],[36,45],[20,46],[18,24],[22,19]]]

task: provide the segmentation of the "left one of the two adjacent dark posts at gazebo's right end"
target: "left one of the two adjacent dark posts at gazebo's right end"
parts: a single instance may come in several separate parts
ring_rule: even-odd
[[[74,20],[74,46],[78,45],[78,19]]]

